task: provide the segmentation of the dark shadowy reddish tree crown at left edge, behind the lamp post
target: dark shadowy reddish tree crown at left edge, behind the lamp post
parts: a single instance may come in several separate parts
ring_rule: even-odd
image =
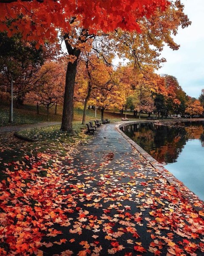
[[[23,104],[26,93],[36,87],[38,71],[44,61],[56,53],[53,45],[52,48],[47,44],[36,49],[36,42],[21,39],[20,34],[8,38],[6,32],[0,33],[0,87],[10,93],[12,77],[17,107]]]

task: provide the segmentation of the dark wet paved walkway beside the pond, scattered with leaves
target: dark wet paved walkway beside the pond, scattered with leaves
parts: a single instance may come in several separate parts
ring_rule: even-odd
[[[44,244],[66,240],[43,246],[43,255],[204,255],[201,216],[115,124],[63,164],[59,195],[67,195],[68,221],[55,224],[62,233]]]

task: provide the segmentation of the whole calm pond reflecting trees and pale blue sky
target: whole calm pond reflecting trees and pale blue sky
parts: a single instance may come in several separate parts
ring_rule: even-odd
[[[121,129],[204,200],[204,121],[149,122]]]

